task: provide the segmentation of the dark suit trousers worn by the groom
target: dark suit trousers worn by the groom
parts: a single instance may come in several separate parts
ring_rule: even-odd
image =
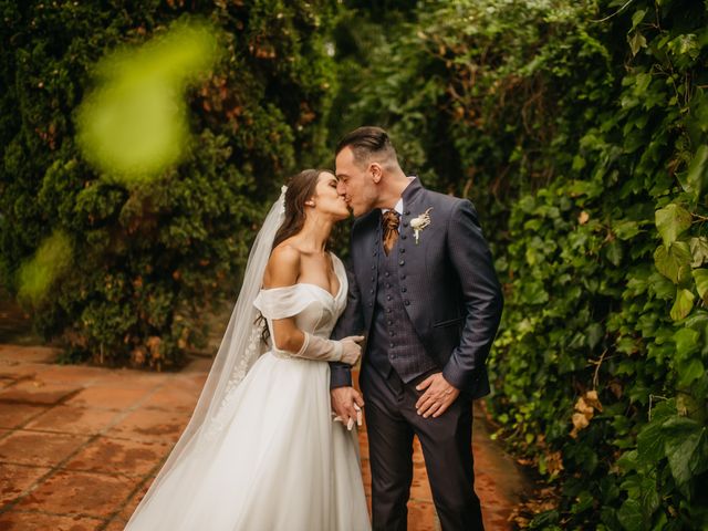
[[[413,437],[418,436],[430,480],[433,500],[444,531],[482,531],[472,462],[472,400],[460,395],[438,418],[423,418],[416,385],[427,375],[404,383],[396,371],[382,375],[364,363],[364,393],[372,467],[374,531],[405,531],[413,480]]]

